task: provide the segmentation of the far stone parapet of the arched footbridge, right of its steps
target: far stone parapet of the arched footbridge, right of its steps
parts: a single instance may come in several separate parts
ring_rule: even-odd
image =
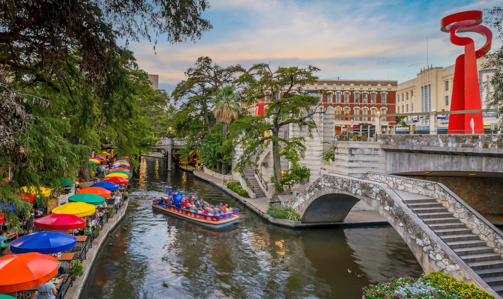
[[[472,230],[473,234],[478,235],[480,240],[485,241],[495,253],[503,255],[503,235],[501,232],[468,206],[459,196],[444,188],[444,185],[435,181],[381,173],[368,173],[365,178],[385,182],[393,189],[435,198],[450,213],[453,213],[453,217],[458,218],[468,229]]]

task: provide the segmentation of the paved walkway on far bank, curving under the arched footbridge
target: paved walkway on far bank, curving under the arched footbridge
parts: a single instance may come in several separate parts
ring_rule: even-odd
[[[264,218],[265,220],[287,227],[311,227],[311,226],[320,226],[320,225],[380,225],[380,224],[388,224],[388,222],[381,216],[379,213],[375,211],[368,211],[362,205],[355,205],[353,209],[349,212],[348,216],[343,222],[333,222],[333,223],[321,223],[321,224],[302,224],[299,222],[288,221],[284,219],[276,219],[272,218],[267,214],[267,209],[269,208],[269,198],[268,197],[258,197],[258,198],[246,198],[242,197],[236,192],[230,190],[224,185],[224,181],[222,179],[211,176],[204,171],[194,171],[194,175],[199,177],[202,180],[208,181],[209,183],[217,186],[222,189],[224,192],[228,193],[232,197],[236,198],[240,203],[254,211],[257,215]],[[227,181],[228,182],[228,181]],[[290,198],[291,197],[291,198]],[[293,195],[290,197],[283,197],[285,201],[289,201],[293,198]],[[365,205],[367,206],[367,205]],[[367,211],[362,211],[367,210]]]

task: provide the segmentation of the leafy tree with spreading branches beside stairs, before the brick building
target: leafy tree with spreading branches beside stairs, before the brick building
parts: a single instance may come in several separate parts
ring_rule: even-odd
[[[268,64],[257,64],[240,77],[245,84],[243,96],[248,104],[256,103],[258,99],[268,97],[269,108],[265,116],[248,116],[238,119],[231,125],[231,133],[235,145],[240,144],[243,155],[237,162],[237,168],[243,169],[249,161],[248,157],[255,153],[265,142],[273,144],[274,175],[272,181],[277,190],[282,190],[280,157],[285,157],[293,165],[304,156],[304,137],[283,138],[281,128],[294,124],[307,129],[311,136],[316,128],[312,117],[317,113],[324,113],[321,106],[312,108],[318,99],[299,90],[307,83],[314,83],[318,79],[313,75],[319,69],[309,65],[307,68],[279,67],[272,71]],[[279,92],[283,92],[280,96]],[[267,95],[272,95],[271,96]],[[244,134],[243,134],[244,132]],[[266,134],[264,134],[266,132]],[[269,134],[268,134],[269,133]]]

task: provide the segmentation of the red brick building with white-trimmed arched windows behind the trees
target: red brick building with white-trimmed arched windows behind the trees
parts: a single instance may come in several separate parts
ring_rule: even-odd
[[[312,85],[295,86],[296,89],[290,92],[298,92],[299,87],[312,91],[311,94],[319,98],[319,104],[324,108],[332,107],[336,115],[394,114],[397,86],[397,81],[387,80],[318,80]],[[276,96],[283,97],[283,92],[286,90]],[[245,108],[250,114],[264,115],[271,101],[270,96],[265,96]],[[395,123],[394,117],[383,117],[381,130],[391,132]],[[375,126],[376,119],[371,117],[337,118],[334,134],[341,131],[375,132]]]

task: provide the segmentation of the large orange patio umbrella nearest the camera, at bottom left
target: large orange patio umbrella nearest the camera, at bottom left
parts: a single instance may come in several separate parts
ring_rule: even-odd
[[[58,260],[31,252],[0,257],[0,293],[10,293],[40,285],[58,272]]]

